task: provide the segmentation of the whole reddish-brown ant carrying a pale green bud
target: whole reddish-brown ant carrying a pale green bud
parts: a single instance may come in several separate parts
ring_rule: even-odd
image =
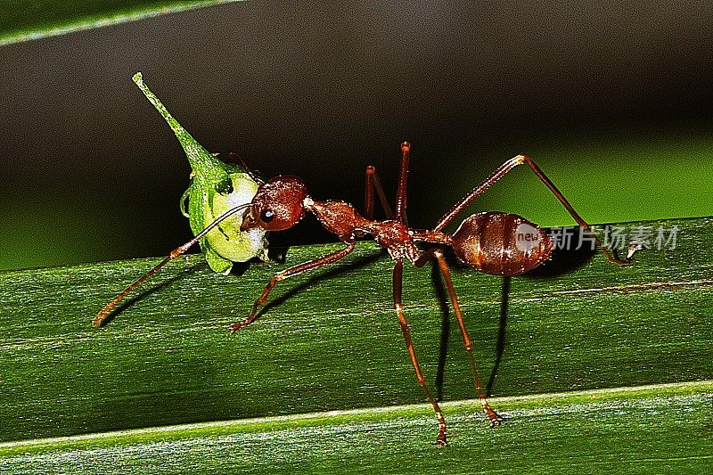
[[[120,299],[123,299],[130,291],[133,291],[139,284],[155,274],[170,260],[184,254],[186,250],[198,242],[201,237],[208,233],[220,221],[225,219],[225,217],[245,209],[242,230],[259,227],[266,231],[282,231],[299,223],[308,211],[315,215],[324,228],[336,235],[346,247],[321,258],[309,260],[298,266],[292,266],[275,274],[265,286],[262,294],[255,301],[250,315],[242,320],[242,322],[233,323],[230,329],[232,331],[242,330],[254,322],[256,318],[258,318],[259,308],[266,303],[267,297],[270,291],[275,288],[276,283],[294,275],[303,274],[307,271],[332,264],[340,258],[344,258],[354,250],[357,236],[371,234],[376,242],[389,251],[389,255],[395,261],[392,279],[394,308],[398,316],[398,323],[401,326],[401,332],[404,335],[404,340],[406,340],[408,355],[411,358],[411,363],[414,365],[416,378],[423,392],[426,394],[426,397],[428,397],[430,405],[433,406],[433,410],[436,412],[436,417],[438,418],[438,437],[436,438],[436,444],[438,446],[447,445],[446,420],[441,413],[438,402],[426,386],[421,365],[418,363],[414,350],[414,343],[411,340],[409,324],[404,314],[404,308],[401,302],[401,291],[405,259],[418,267],[424,266],[431,259],[437,261],[438,268],[441,274],[443,274],[447,286],[448,296],[455,311],[458,327],[463,336],[463,346],[470,359],[473,380],[475,381],[475,387],[478,390],[480,401],[483,404],[484,412],[488,415],[491,427],[500,425],[503,419],[488,405],[485,392],[480,383],[478,367],[473,358],[471,338],[465,329],[463,313],[458,304],[451,274],[446,259],[443,257],[443,251],[438,247],[422,251],[418,248],[417,243],[426,242],[449,246],[453,248],[455,255],[465,264],[475,267],[480,272],[486,274],[504,276],[524,274],[544,263],[552,254],[553,242],[543,229],[518,215],[502,212],[478,213],[467,217],[455,233],[449,234],[442,231],[471,201],[475,200],[482,192],[488,190],[492,184],[496,183],[496,181],[511,171],[512,168],[523,164],[527,164],[529,168],[535,172],[535,175],[542,180],[547,188],[553,192],[554,196],[561,201],[564,208],[570,212],[570,215],[574,217],[578,225],[582,226],[587,232],[591,232],[591,228],[582,217],[579,217],[577,212],[570,205],[570,202],[564,198],[550,179],[545,176],[545,173],[537,167],[535,162],[529,157],[518,155],[504,162],[504,164],[497,168],[491,176],[488,176],[483,183],[475,187],[461,201],[458,201],[438,220],[438,223],[433,229],[412,229],[406,225],[406,176],[408,173],[410,150],[411,145],[409,143],[401,144],[401,165],[398,174],[395,212],[391,211],[386,195],[381,187],[381,180],[375,168],[372,166],[366,168],[365,216],[360,215],[352,205],[345,201],[313,200],[307,193],[307,187],[304,181],[302,181],[299,176],[275,176],[259,186],[257,194],[249,204],[231,209],[218,217],[216,221],[209,225],[203,232],[199,233],[193,240],[173,250],[158,266],[155,266],[151,271],[127,287],[127,289],[121,292],[116,298],[112,299],[96,318],[94,318],[94,324],[102,324],[110,314],[111,309],[117,305]],[[378,221],[373,219],[374,192],[378,195],[379,201],[381,201],[381,207],[387,216],[385,220]],[[633,255],[632,250],[629,251],[625,259],[615,258],[603,247],[602,242],[596,238],[596,236],[594,236],[594,240],[611,262],[624,265],[631,261],[631,256]]]

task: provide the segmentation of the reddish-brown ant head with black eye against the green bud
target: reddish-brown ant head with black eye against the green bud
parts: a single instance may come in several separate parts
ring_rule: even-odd
[[[282,231],[299,223],[305,216],[307,187],[299,176],[275,176],[261,184],[245,211],[241,229],[259,227],[266,231]]]

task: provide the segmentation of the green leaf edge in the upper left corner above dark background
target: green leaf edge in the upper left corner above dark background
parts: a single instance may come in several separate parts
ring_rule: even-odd
[[[0,6],[0,45],[237,1],[240,0],[9,0]]]

